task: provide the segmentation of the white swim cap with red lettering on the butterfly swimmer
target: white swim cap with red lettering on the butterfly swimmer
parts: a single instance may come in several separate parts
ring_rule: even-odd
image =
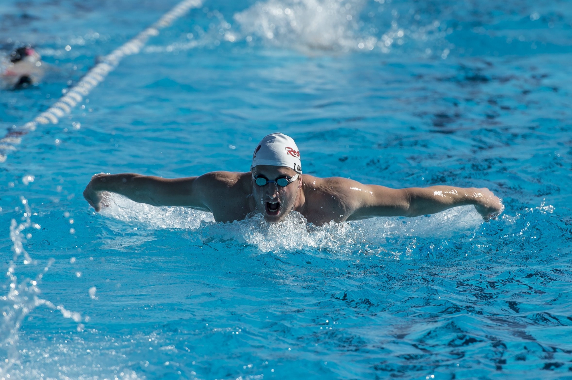
[[[302,172],[300,151],[296,143],[291,137],[278,132],[265,136],[256,145],[251,170],[256,165],[285,166],[295,172]]]

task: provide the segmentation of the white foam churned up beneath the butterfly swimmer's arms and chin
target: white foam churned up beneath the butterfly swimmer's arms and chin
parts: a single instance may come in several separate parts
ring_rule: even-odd
[[[345,223],[308,224],[292,212],[277,224],[266,223],[257,214],[233,223],[215,223],[212,215],[183,207],[153,207],[135,203],[120,195],[111,195],[109,207],[102,209],[104,223],[121,240],[110,237],[106,246],[125,250],[154,240],[153,231],[185,231],[184,238],[196,246],[228,244],[256,247],[259,254],[275,253],[287,257],[292,252],[311,256],[350,260],[365,255],[391,260],[436,260],[446,265],[450,260],[472,258],[493,253],[494,245],[483,244],[483,237],[498,236],[507,252],[518,252],[515,261],[526,262],[538,255],[554,260],[559,252],[536,249],[538,237],[545,230],[566,231],[552,216],[554,207],[541,203],[521,213],[499,216],[490,222],[472,206],[456,207],[435,215],[415,218],[376,217]],[[138,222],[134,227],[133,222]],[[515,245],[517,244],[517,245]],[[227,248],[224,248],[227,247]],[[498,252],[498,248],[495,248]],[[326,256],[324,256],[324,254]],[[499,257],[504,260],[504,258]]]

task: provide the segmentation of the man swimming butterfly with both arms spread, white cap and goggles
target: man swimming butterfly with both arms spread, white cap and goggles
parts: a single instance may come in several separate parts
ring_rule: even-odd
[[[153,206],[182,206],[212,212],[216,221],[243,220],[261,213],[268,222],[301,213],[309,223],[349,221],[376,216],[420,216],[474,205],[489,220],[501,200],[486,188],[431,186],[392,189],[341,177],[302,174],[300,151],[292,138],[275,133],[256,145],[251,171],[210,172],[197,177],[164,179],[134,173],[97,174],[84,197],[96,211],[105,207],[103,192],[124,195]]]

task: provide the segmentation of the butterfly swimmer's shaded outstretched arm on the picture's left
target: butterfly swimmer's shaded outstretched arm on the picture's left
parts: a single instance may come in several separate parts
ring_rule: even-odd
[[[166,179],[135,173],[96,174],[85,188],[84,197],[97,212],[101,210],[102,192],[105,191],[153,206],[184,206],[210,211],[203,202],[203,177]]]

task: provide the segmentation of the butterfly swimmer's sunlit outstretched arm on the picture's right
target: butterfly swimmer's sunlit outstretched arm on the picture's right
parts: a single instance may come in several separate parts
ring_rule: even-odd
[[[356,188],[356,187],[353,187]],[[501,199],[487,188],[431,186],[426,188],[391,189],[378,185],[360,188],[356,208],[348,220],[372,216],[420,216],[446,209],[474,205],[476,211],[489,220],[504,209]]]

